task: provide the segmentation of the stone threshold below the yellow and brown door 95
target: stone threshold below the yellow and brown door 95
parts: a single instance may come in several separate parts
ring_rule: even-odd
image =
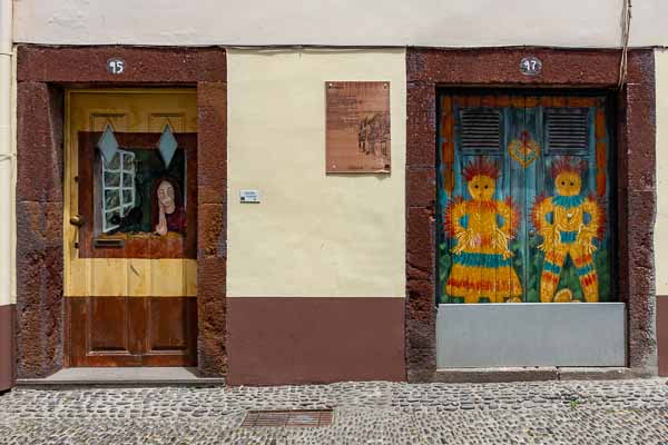
[[[222,377],[199,377],[189,367],[97,367],[63,368],[43,378],[18,378],[21,386],[166,386],[224,385]]]

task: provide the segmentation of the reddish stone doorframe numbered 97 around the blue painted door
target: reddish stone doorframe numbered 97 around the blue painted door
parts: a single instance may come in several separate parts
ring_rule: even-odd
[[[520,73],[525,56],[541,59],[536,77]],[[619,51],[548,48],[406,51],[406,374],[434,378],[436,88],[597,88],[613,91]],[[654,287],[655,66],[651,49],[629,52],[628,82],[618,102],[618,279],[628,308],[628,366],[656,375]],[[638,218],[642,215],[644,218]]]

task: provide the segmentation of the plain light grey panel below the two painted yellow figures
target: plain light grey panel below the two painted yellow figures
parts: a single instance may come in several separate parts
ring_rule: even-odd
[[[436,366],[626,366],[623,303],[440,305]]]

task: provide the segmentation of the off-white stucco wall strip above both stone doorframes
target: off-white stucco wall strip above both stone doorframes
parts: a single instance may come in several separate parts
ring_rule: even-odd
[[[19,42],[480,47],[620,44],[622,0],[14,0]],[[633,1],[631,44],[668,46],[668,1]]]

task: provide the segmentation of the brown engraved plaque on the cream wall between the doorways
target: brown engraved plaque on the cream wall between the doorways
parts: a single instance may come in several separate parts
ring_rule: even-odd
[[[325,82],[328,174],[390,172],[390,82]]]

